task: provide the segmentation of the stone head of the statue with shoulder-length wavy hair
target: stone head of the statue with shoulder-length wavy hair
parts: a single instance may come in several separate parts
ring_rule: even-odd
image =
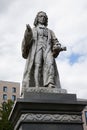
[[[34,20],[34,26],[36,27],[39,23],[45,26],[48,25],[48,17],[43,11],[37,13],[36,18]]]

